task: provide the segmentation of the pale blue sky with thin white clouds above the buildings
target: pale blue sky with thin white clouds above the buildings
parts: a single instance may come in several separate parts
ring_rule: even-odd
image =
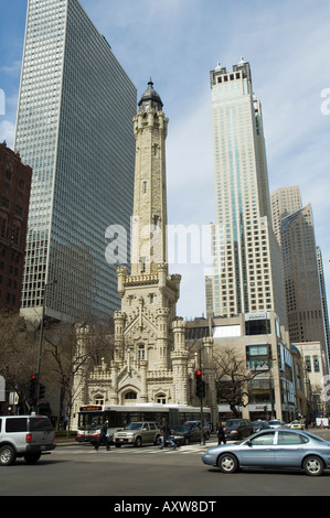
[[[215,220],[210,71],[243,56],[260,99],[269,191],[299,185],[311,204],[330,293],[329,0],[81,0],[138,90],[152,78],[169,118],[168,224],[193,226],[200,259],[178,257],[177,313],[205,314],[209,224]],[[0,0],[0,142],[13,147],[28,0]],[[4,106],[3,106],[4,105]],[[193,256],[193,257],[192,257]]]

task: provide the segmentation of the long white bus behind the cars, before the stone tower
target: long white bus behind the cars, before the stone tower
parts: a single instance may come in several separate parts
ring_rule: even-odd
[[[109,434],[113,435],[130,422],[157,421],[161,424],[163,419],[170,427],[185,421],[201,421],[201,408],[162,403],[86,404],[79,408],[76,441],[93,442],[99,435],[105,421],[108,421]],[[203,408],[203,422],[211,422],[209,408]]]

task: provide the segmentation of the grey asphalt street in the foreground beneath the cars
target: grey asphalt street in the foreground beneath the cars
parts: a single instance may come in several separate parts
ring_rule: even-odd
[[[328,430],[317,433],[330,436]],[[116,501],[143,496],[184,496],[187,501],[212,497],[215,501],[223,496],[329,495],[330,472],[321,477],[262,470],[224,475],[201,461],[202,452],[212,444],[214,440],[206,446],[193,444],[177,451],[124,446],[110,452],[87,444],[60,445],[34,466],[18,460],[13,466],[1,467],[0,495],[108,496],[117,497]]]

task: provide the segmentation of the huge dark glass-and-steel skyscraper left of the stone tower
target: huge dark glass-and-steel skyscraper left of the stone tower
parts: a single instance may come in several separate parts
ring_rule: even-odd
[[[120,306],[106,231],[120,225],[129,235],[136,102],[77,0],[29,0],[14,143],[33,168],[23,313],[35,314],[53,280],[51,317],[108,316]]]

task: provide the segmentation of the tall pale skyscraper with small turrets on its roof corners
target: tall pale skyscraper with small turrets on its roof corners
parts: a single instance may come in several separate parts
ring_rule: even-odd
[[[243,58],[211,72],[216,192],[215,316],[275,311],[286,323],[280,252],[272,229],[259,100]]]

